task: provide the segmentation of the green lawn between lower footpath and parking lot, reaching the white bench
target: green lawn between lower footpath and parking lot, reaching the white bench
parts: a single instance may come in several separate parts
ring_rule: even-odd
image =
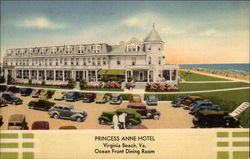
[[[193,93],[188,95],[198,95],[205,99],[209,99],[212,103],[220,106],[221,110],[232,112],[242,102],[249,102],[250,89],[243,90],[231,90],[222,92],[210,92],[210,93]],[[157,93],[150,93],[157,94]],[[145,94],[145,98],[148,94]],[[180,94],[158,94],[159,101],[171,101],[176,99]],[[183,95],[183,94],[182,94]],[[239,118],[241,126],[249,128],[250,115],[249,108]]]

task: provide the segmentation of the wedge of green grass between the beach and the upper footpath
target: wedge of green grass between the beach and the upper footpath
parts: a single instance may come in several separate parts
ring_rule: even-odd
[[[227,79],[206,76],[193,72],[191,74],[185,75],[185,71],[180,71],[179,75],[185,81],[228,81]]]

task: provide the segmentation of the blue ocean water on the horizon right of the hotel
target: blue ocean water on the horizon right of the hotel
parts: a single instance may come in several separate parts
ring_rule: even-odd
[[[215,70],[221,72],[230,72],[237,74],[250,74],[250,63],[241,64],[180,64],[180,67],[185,68],[198,68],[205,70]]]

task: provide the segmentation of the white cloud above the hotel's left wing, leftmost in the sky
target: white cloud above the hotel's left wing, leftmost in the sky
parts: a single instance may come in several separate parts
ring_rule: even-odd
[[[26,28],[39,28],[39,29],[62,29],[65,25],[57,24],[50,21],[45,17],[38,17],[34,19],[26,19],[22,21],[19,26]]]

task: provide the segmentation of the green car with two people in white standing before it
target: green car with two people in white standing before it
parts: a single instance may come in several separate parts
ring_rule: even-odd
[[[127,108],[121,108],[117,109],[113,112],[102,112],[101,116],[98,118],[99,124],[102,125],[112,125],[113,124],[113,116],[115,114],[120,115],[122,113],[126,113],[126,128],[130,128],[134,125],[140,125],[141,124],[141,115],[137,113],[133,109],[127,109]]]

